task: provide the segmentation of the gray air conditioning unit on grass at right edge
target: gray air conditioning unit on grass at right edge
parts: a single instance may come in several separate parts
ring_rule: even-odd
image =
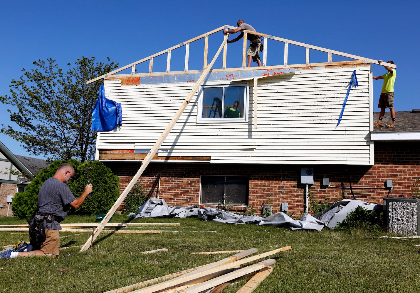
[[[420,235],[420,199],[384,197],[383,216],[389,233]]]

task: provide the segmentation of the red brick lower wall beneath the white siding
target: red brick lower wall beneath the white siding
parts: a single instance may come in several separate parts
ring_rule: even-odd
[[[388,189],[357,189],[358,187],[383,187],[387,179],[393,181],[394,196],[410,197],[413,183],[420,179],[420,151],[417,143],[375,143],[374,166],[336,165],[232,165],[232,164],[182,164],[150,163],[140,180],[143,187],[151,189],[151,196],[163,198],[168,205],[188,206],[199,204],[200,175],[249,176],[248,205],[260,213],[262,203],[271,194],[273,212],[280,211],[280,203],[289,203],[289,214],[304,212],[305,184],[300,184],[302,167],[314,168],[314,184],[309,186],[315,200],[342,198],[341,188],[322,186],[323,178],[331,186],[344,184],[344,195],[353,198],[349,182],[358,200],[382,203],[391,196]],[[105,163],[121,178],[121,192],[139,170],[136,163]],[[152,189],[153,187],[153,189]],[[200,206],[205,207],[205,206]],[[243,210],[243,208],[239,208]]]

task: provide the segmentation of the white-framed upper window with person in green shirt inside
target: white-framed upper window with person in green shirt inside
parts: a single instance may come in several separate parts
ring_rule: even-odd
[[[246,122],[247,104],[246,83],[202,86],[198,122]]]

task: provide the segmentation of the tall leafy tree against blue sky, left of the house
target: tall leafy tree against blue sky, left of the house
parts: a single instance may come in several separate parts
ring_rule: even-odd
[[[10,119],[19,127],[2,124],[1,132],[23,143],[29,153],[46,155],[50,161],[92,159],[96,143],[96,132],[90,130],[92,108],[102,81],[86,82],[118,64],[110,63],[109,57],[107,63],[98,63],[95,57],[83,56],[74,66],[68,63],[66,73],[51,58],[34,65],[11,81],[10,96],[0,96],[3,104],[12,106]]]

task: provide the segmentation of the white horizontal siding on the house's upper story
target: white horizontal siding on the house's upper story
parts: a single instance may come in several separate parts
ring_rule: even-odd
[[[353,70],[359,86],[351,88],[336,127]],[[152,148],[194,86],[120,84],[105,80],[106,97],[122,104],[123,122],[120,129],[98,133],[99,150]],[[212,163],[371,165],[370,84],[369,65],[296,70],[293,76],[261,78],[257,128],[252,80],[248,122],[197,124],[196,93],[158,154],[211,156]]]

